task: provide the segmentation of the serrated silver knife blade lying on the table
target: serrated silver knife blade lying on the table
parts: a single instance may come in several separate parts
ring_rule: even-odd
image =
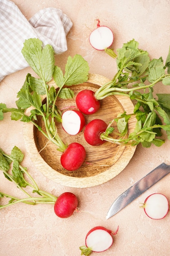
[[[139,195],[144,193],[147,189],[165,177],[170,173],[170,165],[160,164],[146,176],[141,178],[138,182],[133,184],[129,189],[124,191],[116,200],[111,204],[110,209],[106,215],[106,219],[109,219],[122,209],[135,200]]]

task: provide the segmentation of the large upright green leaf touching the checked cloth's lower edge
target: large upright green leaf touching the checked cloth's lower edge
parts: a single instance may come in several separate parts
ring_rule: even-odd
[[[51,80],[54,72],[54,51],[51,45],[42,49],[42,41],[38,38],[25,40],[22,54],[30,67],[43,81]]]

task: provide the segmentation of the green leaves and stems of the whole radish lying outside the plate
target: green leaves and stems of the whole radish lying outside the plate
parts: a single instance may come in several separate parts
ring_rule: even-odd
[[[10,198],[7,204],[0,205],[0,209],[20,202],[33,205],[42,203],[55,204],[57,200],[55,195],[39,189],[33,177],[28,173],[27,168],[21,165],[23,157],[23,153],[16,146],[13,147],[10,155],[7,155],[0,149],[0,170],[2,170],[6,178],[15,183],[18,189],[25,195],[24,198],[20,199],[0,191],[0,198]],[[33,189],[32,193],[35,193],[35,196],[26,191],[27,186],[31,186]]]

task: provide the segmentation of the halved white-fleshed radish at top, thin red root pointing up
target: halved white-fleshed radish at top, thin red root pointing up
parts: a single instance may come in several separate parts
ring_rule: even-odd
[[[100,26],[100,21],[97,19],[97,29],[93,30],[89,36],[89,42],[96,50],[104,50],[113,43],[113,32],[109,27]]]

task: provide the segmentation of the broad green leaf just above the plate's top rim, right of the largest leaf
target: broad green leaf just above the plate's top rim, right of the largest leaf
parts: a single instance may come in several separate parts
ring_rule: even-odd
[[[88,71],[88,62],[81,55],[76,54],[73,58],[68,56],[64,74],[65,85],[76,85],[86,82],[88,80]]]

